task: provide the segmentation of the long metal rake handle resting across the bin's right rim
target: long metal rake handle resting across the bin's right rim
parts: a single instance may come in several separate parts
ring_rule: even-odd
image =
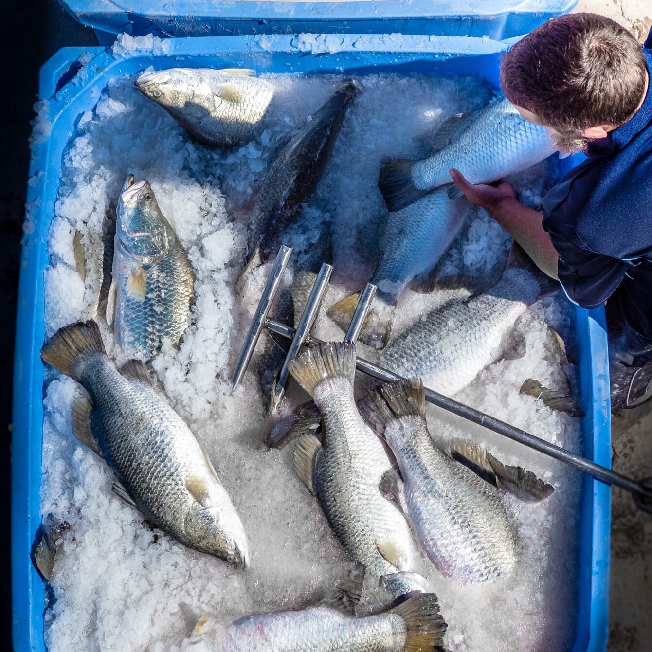
[[[277,333],[287,338],[291,338],[294,334],[293,328],[288,327],[285,324],[278,323],[277,321],[268,320],[267,328],[273,333]],[[316,337],[309,336],[306,338],[306,346],[309,346],[310,344],[320,343],[321,340],[318,340]],[[398,376],[398,374],[393,374],[391,371],[383,369],[378,365],[370,363],[361,358],[357,359],[355,366],[360,371],[388,383],[395,383],[396,381],[406,380],[406,378]],[[499,419],[490,417],[489,415],[484,414],[484,412],[481,412],[477,409],[469,408],[469,406],[454,401],[452,398],[448,398],[443,394],[432,391],[432,389],[428,389],[427,387],[424,389],[426,394],[426,401],[428,401],[428,403],[432,403],[433,405],[459,415],[464,419],[473,421],[474,423],[484,426],[484,428],[488,428],[489,430],[493,430],[494,432],[508,437],[509,439],[518,441],[519,443],[535,449],[535,451],[542,452],[545,455],[559,460],[559,462],[569,464],[569,466],[580,469],[580,471],[584,471],[584,473],[593,475],[593,477],[597,478],[598,480],[607,482],[608,484],[615,484],[616,486],[619,486],[634,494],[635,499],[637,496],[640,496],[649,501],[652,501],[652,486],[646,486],[644,482],[637,482],[626,477],[625,475],[621,475],[620,473],[612,471],[612,469],[600,466],[600,464],[591,462],[591,460],[587,460],[583,457],[580,457],[579,455],[567,451],[566,449],[551,444],[549,441],[541,439],[541,437],[535,437],[534,435],[529,434],[529,432],[525,432],[524,430],[520,430],[520,428],[516,428],[509,423],[505,423],[505,421],[500,421]],[[645,505],[641,505],[640,501],[637,501],[637,505],[642,507],[642,509],[645,509],[645,511],[650,511],[650,508],[646,507]]]

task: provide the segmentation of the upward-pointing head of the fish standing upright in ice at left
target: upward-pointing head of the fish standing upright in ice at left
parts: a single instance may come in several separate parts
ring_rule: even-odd
[[[143,265],[158,262],[170,248],[168,221],[152,188],[144,179],[134,183],[134,175],[127,177],[118,201],[115,245]]]

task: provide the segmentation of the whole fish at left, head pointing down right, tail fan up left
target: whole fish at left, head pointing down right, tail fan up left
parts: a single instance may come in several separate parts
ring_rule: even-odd
[[[243,525],[209,456],[149,383],[140,361],[120,372],[95,321],[65,326],[42,359],[75,379],[91,400],[76,402],[72,430],[115,472],[115,492],[186,546],[246,566]]]

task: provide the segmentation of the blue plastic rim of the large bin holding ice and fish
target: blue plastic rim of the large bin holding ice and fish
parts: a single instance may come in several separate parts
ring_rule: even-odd
[[[158,55],[114,57],[103,48],[65,48],[40,72],[40,98],[48,100],[32,147],[23,240],[12,439],[13,640],[16,652],[44,651],[46,584],[31,559],[41,524],[39,491],[43,434],[44,270],[46,242],[59,190],[62,156],[80,115],[92,110],[113,78],[149,66],[254,68],[259,72],[368,74],[383,71],[475,74],[497,83],[507,46],[482,38],[410,35],[259,35],[172,38]],[[80,63],[80,62],[85,63]],[[604,310],[576,308],[584,454],[610,466],[610,400]],[[579,473],[579,471],[578,471]],[[608,628],[610,488],[585,476],[579,546],[579,619],[573,652],[604,651]],[[556,651],[557,652],[557,651]]]

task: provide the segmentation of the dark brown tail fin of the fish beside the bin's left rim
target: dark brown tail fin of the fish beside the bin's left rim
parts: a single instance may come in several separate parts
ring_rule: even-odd
[[[41,358],[44,362],[78,380],[76,364],[88,353],[104,353],[104,342],[98,325],[89,321],[78,321],[60,328],[43,345]]]

